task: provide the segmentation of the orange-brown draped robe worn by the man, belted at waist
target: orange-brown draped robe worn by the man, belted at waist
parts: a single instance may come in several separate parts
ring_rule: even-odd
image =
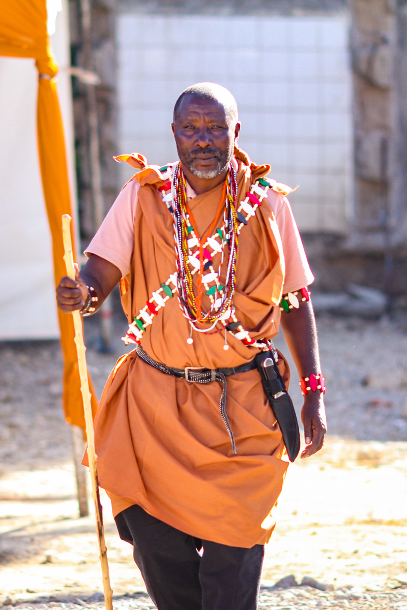
[[[238,201],[268,166],[250,166],[239,151]],[[134,253],[127,291],[122,296],[129,322],[162,282],[176,271],[173,220],[157,192],[157,171],[137,174],[139,190]],[[200,235],[217,210],[222,185],[189,202]],[[222,218],[218,227],[222,225]],[[214,256],[217,268],[220,254]],[[225,271],[225,270],[223,270]],[[193,276],[196,281],[196,274]],[[221,276],[221,284],[224,276]],[[275,336],[284,282],[281,239],[267,204],[239,234],[236,317],[252,339]],[[203,310],[210,305],[203,296]],[[154,360],[170,367],[237,367],[259,348],[243,345],[224,331],[193,331],[176,296],[154,317],[142,346]],[[288,381],[285,361],[279,361]],[[113,513],[139,504],[149,514],[192,536],[250,548],[270,539],[275,523],[266,519],[283,486],[288,462],[281,431],[265,397],[257,370],[228,376],[226,412],[237,445],[232,453],[219,413],[218,382],[193,384],[165,375],[135,351],[112,371],[95,418],[99,484],[112,499]]]

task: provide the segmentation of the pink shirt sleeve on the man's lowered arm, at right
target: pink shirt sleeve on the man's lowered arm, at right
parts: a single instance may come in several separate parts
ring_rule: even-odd
[[[295,222],[289,200],[274,191],[270,192],[267,201],[273,210],[283,243],[286,261],[286,277],[283,292],[293,292],[312,284],[314,276],[301,241],[300,232]]]

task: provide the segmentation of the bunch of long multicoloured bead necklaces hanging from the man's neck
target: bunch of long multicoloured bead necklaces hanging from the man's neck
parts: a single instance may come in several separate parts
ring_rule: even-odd
[[[186,183],[181,162],[176,164],[173,173],[172,191],[179,304],[181,305],[184,317],[187,318],[195,331],[209,332],[215,327],[219,318],[230,309],[235,290],[238,229],[236,171],[229,164],[217,213],[211,226],[201,239],[198,237],[196,223],[187,204]],[[211,240],[210,235],[218,223],[222,212],[222,228],[217,229],[221,243],[215,242],[217,251],[221,253],[220,264],[217,271],[210,270],[209,273],[204,275],[205,267],[209,268],[211,264],[206,265],[204,263],[204,258],[207,258],[207,252],[204,252],[203,245],[206,243],[206,240]],[[194,246],[198,246],[198,249],[192,254],[190,248]],[[228,266],[225,286],[222,286],[220,285],[220,273],[225,259],[226,248],[228,249]],[[210,258],[212,259],[212,256]],[[207,262],[211,263],[211,261]],[[193,290],[193,270],[198,273],[196,295]],[[209,311],[204,313],[201,309],[202,284],[207,284],[209,280],[215,281],[215,286],[214,289],[207,288],[206,293],[214,295],[214,300],[212,300]],[[209,328],[199,328],[196,326],[196,323],[209,323],[211,326]]]

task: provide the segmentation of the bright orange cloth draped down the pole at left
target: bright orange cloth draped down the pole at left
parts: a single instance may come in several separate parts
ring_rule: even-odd
[[[37,137],[41,179],[52,237],[56,285],[66,274],[63,262],[62,214],[70,214],[65,139],[54,77],[58,66],[52,54],[47,32],[46,0],[0,0],[0,55],[33,57],[39,84],[37,100]],[[71,226],[74,243],[74,231]],[[85,428],[81,382],[77,368],[73,318],[58,310],[60,342],[65,362],[63,373],[63,408],[67,421]],[[97,400],[90,381],[92,410]]]

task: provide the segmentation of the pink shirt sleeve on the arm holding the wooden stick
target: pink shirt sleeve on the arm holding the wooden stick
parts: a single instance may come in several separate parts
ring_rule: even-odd
[[[85,250],[86,256],[97,254],[109,260],[120,270],[122,278],[130,271],[139,188],[137,180],[132,180],[123,188]]]

